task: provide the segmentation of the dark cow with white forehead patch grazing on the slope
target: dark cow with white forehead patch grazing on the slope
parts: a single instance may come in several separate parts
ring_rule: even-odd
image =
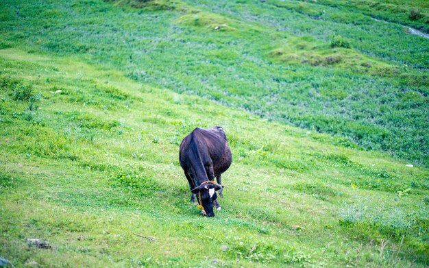
[[[221,174],[232,162],[223,128],[195,128],[180,144],[179,162],[188,179],[191,202],[195,202],[195,194],[198,194],[198,204],[203,215],[215,216],[213,204],[217,210],[221,210],[216,191],[223,197]]]

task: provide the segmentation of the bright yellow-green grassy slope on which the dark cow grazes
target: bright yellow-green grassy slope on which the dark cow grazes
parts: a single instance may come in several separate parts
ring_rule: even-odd
[[[0,57],[0,256],[15,264],[428,263],[427,169],[74,58]],[[181,138],[210,125],[234,154],[215,219],[177,163]]]

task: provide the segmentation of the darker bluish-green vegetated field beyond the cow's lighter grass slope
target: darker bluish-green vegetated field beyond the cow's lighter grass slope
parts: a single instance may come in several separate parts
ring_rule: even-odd
[[[428,40],[402,25],[295,1],[8,1],[2,8],[2,47],[78,56],[140,83],[428,167]]]

